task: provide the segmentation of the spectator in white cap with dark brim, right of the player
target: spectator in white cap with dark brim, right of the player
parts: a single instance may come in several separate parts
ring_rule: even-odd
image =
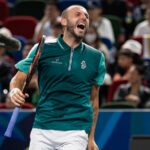
[[[135,40],[126,41],[118,54],[113,81],[128,80],[130,67],[142,63],[142,45]]]

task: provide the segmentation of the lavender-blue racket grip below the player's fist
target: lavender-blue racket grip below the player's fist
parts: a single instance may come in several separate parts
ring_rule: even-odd
[[[15,109],[13,110],[11,119],[9,121],[8,127],[5,131],[5,134],[4,134],[5,137],[9,137],[9,138],[11,137],[19,112],[20,112],[20,108],[15,107]]]

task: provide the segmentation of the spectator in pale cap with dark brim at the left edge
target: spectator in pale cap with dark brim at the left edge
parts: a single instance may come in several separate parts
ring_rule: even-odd
[[[6,51],[12,52],[18,49],[20,49],[20,42],[11,37],[11,33],[6,28],[0,29],[0,102],[5,102],[9,82],[15,71],[14,66],[5,59]]]

